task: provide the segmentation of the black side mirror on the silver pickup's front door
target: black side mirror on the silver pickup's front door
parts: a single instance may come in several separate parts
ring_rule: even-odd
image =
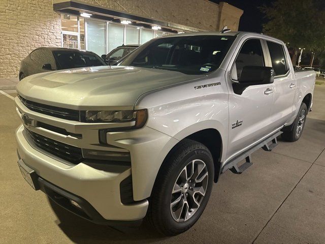
[[[237,83],[233,83],[234,93],[241,95],[251,85],[272,84],[274,70],[272,67],[244,66]]]

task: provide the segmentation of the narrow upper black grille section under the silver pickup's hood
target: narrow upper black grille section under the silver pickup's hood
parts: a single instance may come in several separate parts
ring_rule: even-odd
[[[80,120],[80,111],[79,110],[54,107],[54,106],[45,105],[45,104],[36,103],[36,102],[26,100],[19,95],[18,95],[18,97],[19,97],[20,101],[28,109],[30,109],[32,111],[50,115],[50,116],[57,117],[57,118],[64,118],[64,119],[74,120],[74,121]]]

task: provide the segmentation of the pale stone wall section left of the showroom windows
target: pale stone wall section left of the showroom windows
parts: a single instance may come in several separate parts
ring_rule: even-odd
[[[18,77],[20,61],[40,46],[61,46],[52,1],[0,0],[0,77]]]

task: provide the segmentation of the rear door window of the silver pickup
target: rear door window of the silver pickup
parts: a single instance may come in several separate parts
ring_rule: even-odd
[[[267,41],[267,44],[271,56],[272,68],[274,69],[275,75],[285,75],[288,69],[283,46],[281,44],[269,41]]]

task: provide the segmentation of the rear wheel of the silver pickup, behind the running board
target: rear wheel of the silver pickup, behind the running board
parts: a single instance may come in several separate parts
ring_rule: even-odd
[[[302,116],[304,116],[303,119]],[[290,142],[298,141],[305,128],[306,116],[307,105],[305,103],[302,103],[293,125],[285,127],[283,129],[283,133],[281,134],[282,139]]]

